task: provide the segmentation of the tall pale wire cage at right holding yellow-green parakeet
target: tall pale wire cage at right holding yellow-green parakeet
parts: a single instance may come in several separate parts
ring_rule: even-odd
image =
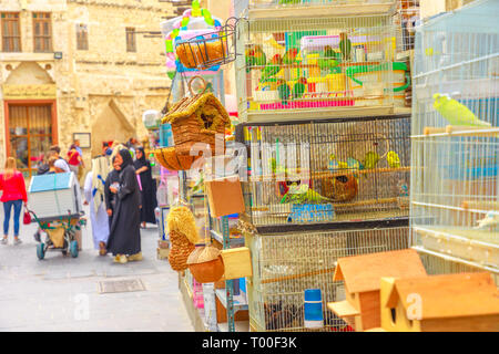
[[[416,33],[411,230],[436,271],[499,273],[498,11],[476,1]]]

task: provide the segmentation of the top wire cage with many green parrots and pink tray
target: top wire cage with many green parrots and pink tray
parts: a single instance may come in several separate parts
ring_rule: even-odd
[[[237,48],[244,55],[236,59],[236,81],[243,122],[251,114],[306,115],[316,108],[389,113],[405,104],[407,65],[394,63],[390,14],[249,19],[240,24]]]

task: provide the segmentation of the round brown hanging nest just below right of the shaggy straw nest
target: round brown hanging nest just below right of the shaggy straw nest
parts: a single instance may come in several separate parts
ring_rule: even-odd
[[[218,281],[225,272],[220,250],[204,243],[196,248],[187,259],[189,270],[200,283],[213,283]]]

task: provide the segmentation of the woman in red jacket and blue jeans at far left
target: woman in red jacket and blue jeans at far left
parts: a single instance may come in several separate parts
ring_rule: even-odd
[[[22,243],[19,239],[19,219],[21,216],[22,205],[28,202],[26,192],[24,177],[17,169],[17,163],[13,157],[9,157],[6,162],[6,169],[0,174],[0,190],[3,190],[0,201],[3,202],[3,239],[2,244],[7,244],[9,235],[10,212],[13,208],[14,222],[14,244]]]

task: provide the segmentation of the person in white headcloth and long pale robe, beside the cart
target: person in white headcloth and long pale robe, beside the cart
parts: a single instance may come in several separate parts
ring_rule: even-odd
[[[92,170],[86,174],[83,192],[85,205],[90,205],[90,221],[92,222],[93,246],[99,254],[105,256],[109,238],[109,220],[105,210],[104,187],[109,174],[108,158],[95,157]]]

